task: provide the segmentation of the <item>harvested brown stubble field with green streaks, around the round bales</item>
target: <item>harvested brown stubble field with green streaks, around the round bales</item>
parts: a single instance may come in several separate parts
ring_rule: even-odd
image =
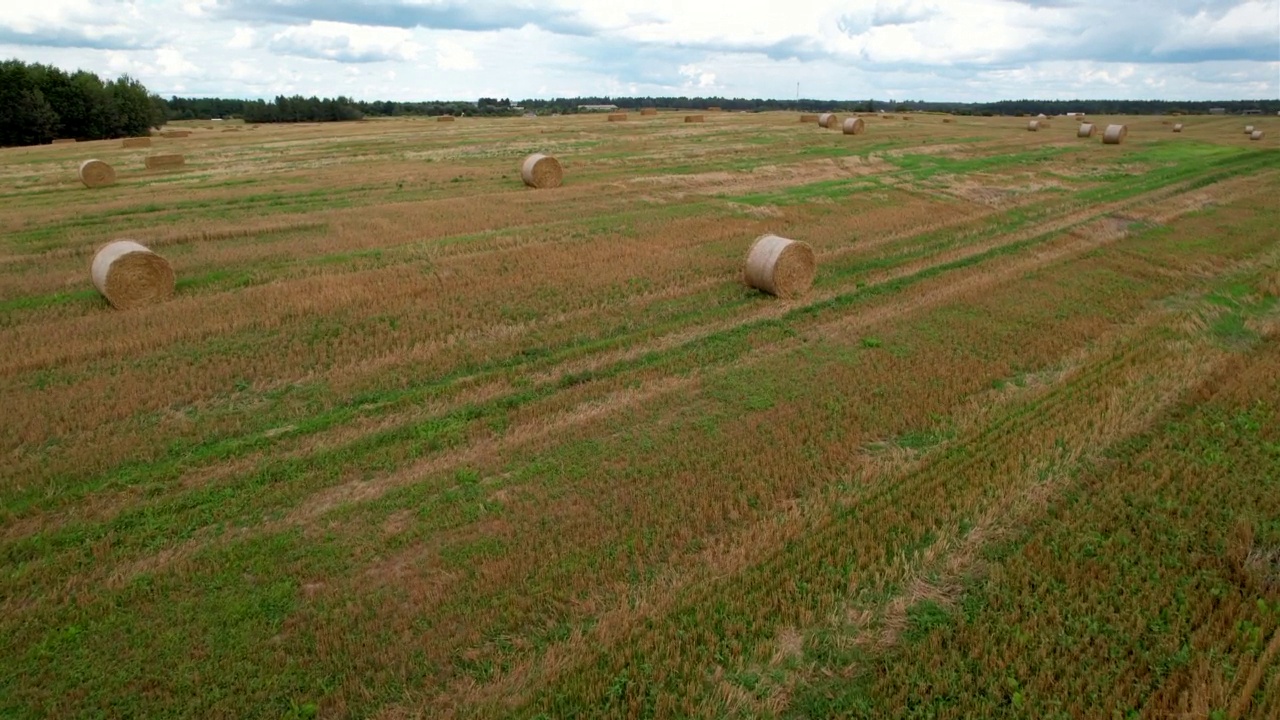
[[[1280,120],[796,118],[0,150],[0,717],[1280,716]]]

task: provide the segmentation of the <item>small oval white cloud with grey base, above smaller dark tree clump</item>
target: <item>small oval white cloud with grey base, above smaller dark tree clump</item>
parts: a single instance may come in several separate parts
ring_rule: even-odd
[[[296,55],[338,63],[413,60],[419,46],[399,28],[353,26],[314,20],[271,36],[266,47],[279,55]]]

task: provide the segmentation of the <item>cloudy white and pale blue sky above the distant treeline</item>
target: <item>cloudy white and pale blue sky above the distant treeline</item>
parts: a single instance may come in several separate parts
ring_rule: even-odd
[[[0,0],[161,96],[1280,97],[1280,0]]]

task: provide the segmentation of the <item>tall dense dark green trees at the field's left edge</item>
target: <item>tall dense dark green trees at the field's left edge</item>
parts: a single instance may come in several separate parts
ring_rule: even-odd
[[[129,76],[104,81],[86,70],[0,61],[0,146],[147,135],[166,119],[164,101]]]

